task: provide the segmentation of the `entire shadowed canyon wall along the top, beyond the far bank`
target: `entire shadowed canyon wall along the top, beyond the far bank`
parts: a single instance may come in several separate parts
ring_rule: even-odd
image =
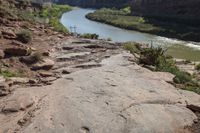
[[[164,21],[200,23],[200,0],[54,0],[60,4],[102,8],[131,6],[133,15],[154,17]]]

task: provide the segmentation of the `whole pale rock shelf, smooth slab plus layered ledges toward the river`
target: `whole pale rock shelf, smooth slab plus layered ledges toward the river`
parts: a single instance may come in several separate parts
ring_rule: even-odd
[[[10,97],[28,96],[27,109],[0,113],[0,132],[174,133],[197,121],[186,105],[200,105],[199,95],[167,83],[168,73],[134,64],[120,45],[71,39],[57,49],[54,71],[62,77],[17,89]]]

